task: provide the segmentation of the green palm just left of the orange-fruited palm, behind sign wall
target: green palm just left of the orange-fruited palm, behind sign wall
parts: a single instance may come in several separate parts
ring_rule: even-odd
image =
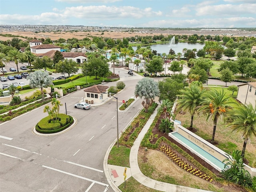
[[[191,121],[190,121],[190,127],[189,129],[193,129],[193,118],[197,107],[200,105],[201,102],[203,102],[203,96],[204,92],[206,90],[202,89],[199,86],[192,85],[189,87],[186,87],[184,90],[181,90],[181,94],[177,95],[179,97],[178,100],[178,107],[177,109],[188,110],[188,112],[191,114]]]

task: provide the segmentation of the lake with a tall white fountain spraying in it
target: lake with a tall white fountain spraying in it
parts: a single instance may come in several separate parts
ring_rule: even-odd
[[[156,50],[157,53],[166,53],[167,55],[169,54],[170,49],[175,51],[175,54],[177,53],[182,53],[182,50],[184,48],[187,49],[194,49],[196,48],[197,50],[202,49],[204,47],[204,44],[201,43],[176,43],[174,46],[170,44],[156,44],[156,45],[151,45],[152,50]],[[132,46],[133,50],[136,51],[137,47]],[[183,54],[183,53],[182,53]]]

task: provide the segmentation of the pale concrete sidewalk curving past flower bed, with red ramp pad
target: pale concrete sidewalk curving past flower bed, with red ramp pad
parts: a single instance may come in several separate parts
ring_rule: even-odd
[[[138,135],[138,138],[136,138],[131,151],[130,151],[130,168],[127,168],[126,172],[126,180],[130,178],[131,176],[136,179],[138,182],[140,182],[142,185],[147,186],[149,188],[164,191],[164,192],[210,192],[207,190],[202,189],[196,189],[196,188],[190,188],[190,187],[184,187],[164,182],[159,182],[156,180],[153,180],[151,178],[146,177],[142,172],[140,171],[140,168],[138,166],[138,150],[140,148],[140,142],[144,138],[144,135],[150,128],[150,125],[152,124],[154,118],[157,114],[157,109],[160,107],[160,104],[155,109],[154,113],[150,116],[148,121],[146,122],[144,128],[141,130],[140,134]],[[108,155],[111,150],[111,148],[116,143],[116,140],[112,143],[112,145],[108,148],[108,151],[106,152],[106,155],[104,157],[104,172],[106,175],[106,178],[110,184],[110,186],[113,188],[115,192],[121,192],[121,190],[118,188],[120,184],[124,182],[124,168],[121,166],[115,166],[115,165],[109,165],[108,164]]]

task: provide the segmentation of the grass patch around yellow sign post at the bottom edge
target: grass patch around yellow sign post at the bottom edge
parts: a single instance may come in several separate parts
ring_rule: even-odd
[[[124,182],[118,186],[122,192],[160,192],[152,188],[142,185],[140,182],[135,180],[133,177],[130,177],[125,182],[126,188],[124,188]]]

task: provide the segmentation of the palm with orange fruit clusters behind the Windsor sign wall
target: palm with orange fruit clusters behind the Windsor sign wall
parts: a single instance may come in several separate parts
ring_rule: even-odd
[[[231,96],[226,96],[224,90],[218,92],[217,90],[213,90],[208,92],[206,95],[206,100],[204,100],[199,106],[200,114],[206,115],[206,120],[213,120],[213,132],[211,143],[214,142],[214,136],[216,132],[216,126],[218,122],[218,118],[222,118],[226,115],[226,111],[230,109],[230,104],[234,103],[229,100]]]

